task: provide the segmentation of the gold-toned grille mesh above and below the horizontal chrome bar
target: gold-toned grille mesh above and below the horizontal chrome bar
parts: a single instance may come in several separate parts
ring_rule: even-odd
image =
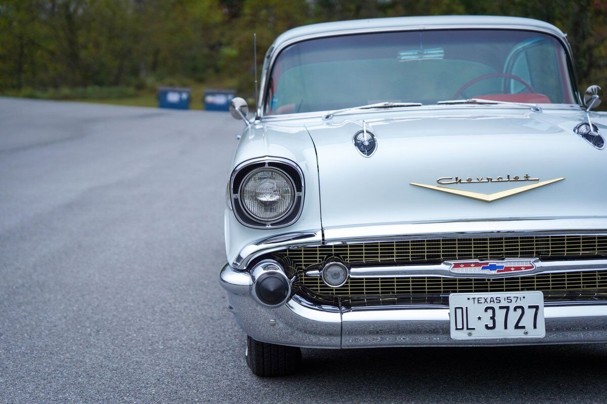
[[[427,239],[293,248],[274,254],[307,294],[328,298],[445,296],[450,293],[540,290],[546,293],[607,290],[607,272],[584,271],[486,278],[383,277],[348,279],[339,288],[305,276],[337,257],[349,266],[440,263],[449,260],[506,258],[592,259],[607,257],[607,236],[528,236]]]

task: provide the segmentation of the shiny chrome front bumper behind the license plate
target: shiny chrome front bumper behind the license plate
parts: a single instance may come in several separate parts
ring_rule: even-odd
[[[293,296],[278,308],[254,302],[251,276],[226,264],[220,284],[228,291],[229,310],[256,340],[307,348],[379,346],[481,346],[588,343],[607,341],[607,304],[546,302],[546,336],[541,339],[453,340],[449,308],[436,305],[337,307]]]

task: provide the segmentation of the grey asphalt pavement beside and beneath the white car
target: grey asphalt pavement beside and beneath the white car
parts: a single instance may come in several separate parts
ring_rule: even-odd
[[[217,283],[241,128],[0,98],[0,402],[607,402],[605,344],[303,349],[253,376]]]

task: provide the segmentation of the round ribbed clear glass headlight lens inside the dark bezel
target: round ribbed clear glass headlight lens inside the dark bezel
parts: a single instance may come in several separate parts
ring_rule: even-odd
[[[271,222],[285,216],[295,200],[293,182],[272,168],[252,171],[242,182],[240,198],[254,219]]]

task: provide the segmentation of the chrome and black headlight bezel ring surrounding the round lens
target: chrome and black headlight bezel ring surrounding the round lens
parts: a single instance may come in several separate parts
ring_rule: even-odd
[[[249,214],[241,200],[242,186],[245,180],[261,170],[273,170],[287,177],[294,189],[293,204],[284,214],[273,220],[262,220]],[[299,219],[304,205],[304,174],[299,166],[288,159],[280,157],[262,157],[245,161],[238,165],[229,181],[230,208],[240,224],[251,228],[280,228],[287,227]]]

